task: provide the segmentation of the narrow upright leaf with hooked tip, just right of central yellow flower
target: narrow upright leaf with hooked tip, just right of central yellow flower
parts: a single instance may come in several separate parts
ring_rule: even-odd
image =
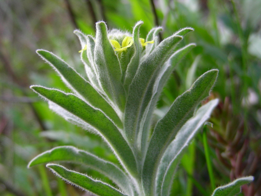
[[[140,54],[141,54],[142,46],[139,41],[139,29],[142,24],[143,24],[143,22],[139,21],[133,27],[132,37],[133,37],[133,44],[135,46],[135,53],[134,53],[131,61],[129,62],[126,73],[125,73],[124,88],[125,88],[127,94],[129,91],[129,85],[131,84],[131,82],[137,72],[138,66],[140,64]]]

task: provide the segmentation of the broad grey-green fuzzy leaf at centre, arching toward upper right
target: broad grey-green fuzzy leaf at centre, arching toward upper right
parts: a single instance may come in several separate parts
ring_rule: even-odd
[[[140,64],[138,71],[129,87],[129,95],[124,114],[124,127],[129,141],[136,142],[139,121],[151,100],[151,90],[159,69],[167,61],[167,58],[175,45],[181,41],[181,36],[170,36],[164,39]],[[150,88],[148,88],[150,87]]]

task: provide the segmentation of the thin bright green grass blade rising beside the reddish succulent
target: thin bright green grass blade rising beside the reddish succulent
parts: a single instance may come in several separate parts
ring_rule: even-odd
[[[214,180],[214,175],[213,175],[213,168],[210,160],[210,154],[209,154],[209,146],[207,144],[207,128],[205,125],[203,127],[203,145],[204,145],[204,151],[205,151],[205,157],[206,157],[206,163],[207,163],[207,170],[209,172],[209,178],[210,178],[210,183],[211,183],[211,188],[212,191],[215,189],[215,180]]]

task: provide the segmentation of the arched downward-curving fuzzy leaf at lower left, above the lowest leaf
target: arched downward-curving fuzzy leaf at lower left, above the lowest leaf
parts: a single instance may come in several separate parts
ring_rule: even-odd
[[[49,163],[53,161],[66,161],[84,164],[100,173],[104,174],[115,182],[125,193],[131,194],[131,182],[127,175],[116,165],[83,150],[79,150],[73,146],[59,146],[45,151],[33,158],[28,168],[41,163]]]

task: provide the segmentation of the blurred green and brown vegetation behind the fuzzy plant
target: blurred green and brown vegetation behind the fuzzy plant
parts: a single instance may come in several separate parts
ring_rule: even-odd
[[[164,88],[155,112],[159,118],[193,81],[211,68],[219,76],[210,99],[220,104],[207,131],[215,185],[253,175],[245,195],[261,195],[261,1],[215,0],[1,0],[0,1],[0,195],[87,195],[44,165],[27,169],[37,154],[60,145],[73,145],[117,164],[102,140],[72,125],[29,89],[31,84],[70,91],[35,53],[52,51],[78,72],[84,66],[74,29],[95,36],[95,22],[110,29],[131,31],[144,24],[145,38],[154,26],[164,39],[183,27],[193,27],[180,43],[197,47],[182,60]],[[206,100],[207,101],[207,100]],[[202,134],[184,155],[171,195],[211,195]],[[94,178],[98,172],[68,164]]]

